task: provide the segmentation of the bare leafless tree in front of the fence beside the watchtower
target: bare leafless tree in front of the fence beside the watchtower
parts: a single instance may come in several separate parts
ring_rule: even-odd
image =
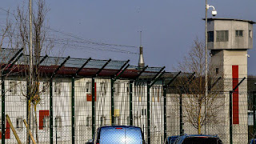
[[[224,101],[221,100],[223,96],[218,93],[223,87],[223,82],[214,74],[213,66],[210,64],[208,64],[209,70],[207,70],[209,92],[207,96],[205,94],[204,54],[204,44],[197,38],[194,40],[189,54],[184,57],[182,62],[179,62],[176,68],[176,70],[195,73],[193,80],[182,78],[179,81],[178,90],[183,94],[182,106],[184,107],[185,122],[194,126],[198,130],[198,134],[202,134],[202,126],[221,122],[221,118],[218,118],[219,110],[224,106]]]

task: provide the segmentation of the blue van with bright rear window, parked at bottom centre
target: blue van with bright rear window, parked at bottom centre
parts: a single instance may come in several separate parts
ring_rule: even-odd
[[[94,134],[94,144],[145,144],[137,126],[102,126]]]

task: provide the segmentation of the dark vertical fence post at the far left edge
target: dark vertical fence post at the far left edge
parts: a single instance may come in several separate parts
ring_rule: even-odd
[[[5,117],[5,109],[6,109],[6,94],[5,94],[5,78],[2,74],[2,144],[6,141],[6,117]]]

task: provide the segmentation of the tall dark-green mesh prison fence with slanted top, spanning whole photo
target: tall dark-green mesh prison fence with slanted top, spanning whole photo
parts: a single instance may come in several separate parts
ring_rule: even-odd
[[[255,136],[254,78],[209,78],[204,98],[191,87],[198,82],[194,74],[129,61],[42,57],[37,101],[29,109],[28,57],[20,53],[2,65],[2,143],[17,143],[6,114],[22,143],[28,137],[24,119],[38,143],[86,143],[100,126],[123,125],[141,127],[148,144],[164,143],[168,136],[198,134],[198,114],[201,133],[218,134],[223,143]]]

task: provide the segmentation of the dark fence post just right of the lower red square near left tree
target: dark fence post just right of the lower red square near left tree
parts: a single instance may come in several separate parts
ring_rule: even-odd
[[[53,79],[50,78],[50,144],[54,143],[53,118]]]

